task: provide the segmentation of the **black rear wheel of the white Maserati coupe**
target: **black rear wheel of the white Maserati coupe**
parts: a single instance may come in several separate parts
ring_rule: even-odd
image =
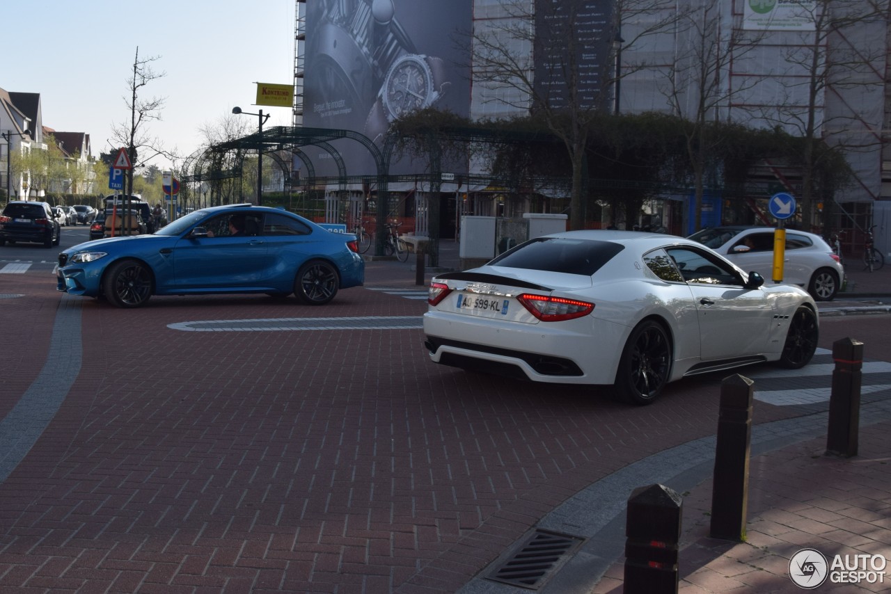
[[[618,364],[617,395],[633,404],[650,404],[668,383],[672,346],[657,321],[642,321],[632,331]]]

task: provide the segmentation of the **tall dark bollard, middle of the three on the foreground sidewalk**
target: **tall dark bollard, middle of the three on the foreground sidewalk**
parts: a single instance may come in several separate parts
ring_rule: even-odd
[[[709,536],[725,541],[746,538],[753,384],[751,379],[739,374],[721,382]]]

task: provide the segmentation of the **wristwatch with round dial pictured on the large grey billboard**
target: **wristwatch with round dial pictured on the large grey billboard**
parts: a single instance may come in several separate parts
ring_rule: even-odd
[[[380,142],[394,119],[439,101],[450,85],[445,78],[445,63],[439,58],[419,53],[397,58],[365,120],[365,135]]]

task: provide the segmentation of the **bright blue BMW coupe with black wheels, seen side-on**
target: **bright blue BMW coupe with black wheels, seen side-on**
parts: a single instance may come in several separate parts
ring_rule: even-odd
[[[153,234],[68,248],[59,255],[57,281],[61,291],[119,307],[144,305],[152,295],[208,293],[294,293],[304,304],[323,305],[339,289],[363,284],[356,252],[355,235],[241,204],[196,210]]]

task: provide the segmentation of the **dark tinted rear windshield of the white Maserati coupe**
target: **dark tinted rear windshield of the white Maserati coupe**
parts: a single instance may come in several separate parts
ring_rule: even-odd
[[[488,264],[591,276],[624,248],[611,241],[539,238],[511,249]]]

